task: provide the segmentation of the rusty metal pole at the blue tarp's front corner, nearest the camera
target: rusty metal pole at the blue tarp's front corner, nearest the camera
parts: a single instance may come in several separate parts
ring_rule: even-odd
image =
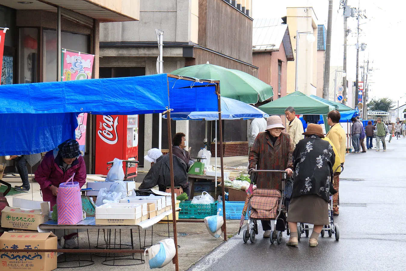
[[[169,169],[171,172],[171,192],[172,192],[172,217],[173,217],[173,241],[175,243],[175,257],[172,262],[175,264],[175,270],[179,271],[178,251],[177,251],[177,230],[176,230],[176,204],[175,204],[175,181],[173,177],[173,157],[172,157],[172,131],[171,131],[171,111],[167,111],[168,120],[168,149],[169,149]]]

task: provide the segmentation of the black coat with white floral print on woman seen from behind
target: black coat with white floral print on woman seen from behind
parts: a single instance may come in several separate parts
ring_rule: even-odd
[[[292,198],[316,194],[329,201],[335,154],[328,141],[311,136],[299,141],[293,152]]]

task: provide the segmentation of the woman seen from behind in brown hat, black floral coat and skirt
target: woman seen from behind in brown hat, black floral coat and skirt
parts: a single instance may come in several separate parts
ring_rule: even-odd
[[[335,152],[332,145],[323,140],[323,129],[318,124],[309,124],[305,138],[300,140],[293,152],[294,183],[289,205],[290,238],[287,245],[298,245],[297,223],[313,224],[309,239],[311,247],[323,225],[328,225],[328,201],[330,183],[333,180]]]

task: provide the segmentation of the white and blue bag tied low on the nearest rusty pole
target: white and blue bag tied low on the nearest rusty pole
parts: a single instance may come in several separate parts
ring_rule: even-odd
[[[175,257],[176,249],[175,242],[173,239],[168,238],[158,242],[156,245],[145,249],[145,252],[148,251],[149,257],[149,268],[161,268],[166,264],[171,262],[173,257]],[[144,252],[144,258],[145,258]]]

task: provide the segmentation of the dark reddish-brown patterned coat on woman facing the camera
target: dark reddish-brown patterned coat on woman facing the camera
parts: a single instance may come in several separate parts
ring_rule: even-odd
[[[249,169],[258,170],[285,170],[293,169],[292,150],[293,143],[289,134],[282,132],[275,144],[270,139],[268,131],[261,132],[255,139],[249,156]],[[257,188],[281,190],[281,173],[259,172]]]

